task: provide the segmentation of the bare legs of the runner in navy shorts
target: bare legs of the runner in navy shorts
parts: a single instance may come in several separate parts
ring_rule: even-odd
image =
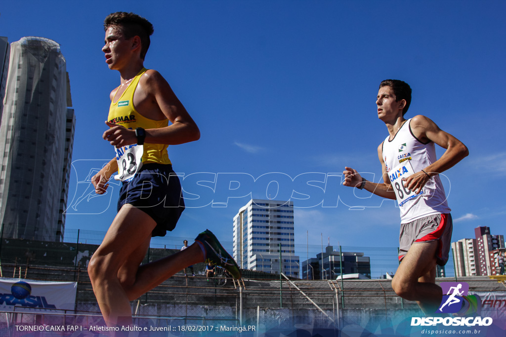
[[[130,299],[146,293],[182,268],[204,261],[200,248],[192,245],[139,267],[137,263],[144,259],[155,226],[153,219],[140,209],[123,206],[90,260],[88,272],[93,291],[109,326],[131,325]]]

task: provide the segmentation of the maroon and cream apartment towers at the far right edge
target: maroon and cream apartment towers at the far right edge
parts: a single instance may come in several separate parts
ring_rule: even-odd
[[[451,243],[456,276],[493,275],[494,251],[504,248],[503,235],[491,235],[490,227],[475,228],[474,239],[465,238]]]

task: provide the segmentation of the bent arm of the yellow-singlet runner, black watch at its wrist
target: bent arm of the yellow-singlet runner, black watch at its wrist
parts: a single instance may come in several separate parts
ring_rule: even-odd
[[[200,138],[197,124],[190,117],[184,106],[167,81],[156,70],[148,70],[141,77],[142,90],[153,100],[153,105],[159,109],[160,117],[171,121],[171,125],[158,129],[146,129],[147,143],[177,145]],[[161,118],[160,118],[161,119]],[[120,148],[137,143],[135,130],[106,122],[110,127],[104,132],[103,138],[111,145]]]

